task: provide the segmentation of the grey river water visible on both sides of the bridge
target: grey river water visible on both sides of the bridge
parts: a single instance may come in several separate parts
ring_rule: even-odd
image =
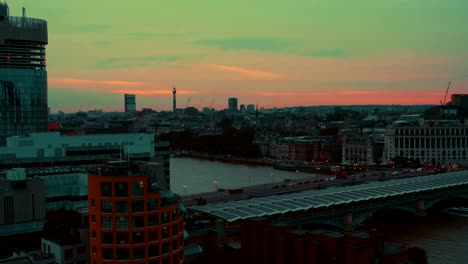
[[[272,181],[280,182],[286,178],[307,177],[314,175],[278,171],[265,166],[191,158],[171,159],[171,189],[179,194],[184,194],[184,191],[188,195],[214,191],[214,181],[218,182],[219,188],[229,189],[249,186],[249,183],[272,184]],[[385,215],[377,217],[374,224],[383,232],[385,241],[424,248],[431,264],[468,263],[468,217],[438,212],[424,217],[403,214],[393,218],[392,215]]]

